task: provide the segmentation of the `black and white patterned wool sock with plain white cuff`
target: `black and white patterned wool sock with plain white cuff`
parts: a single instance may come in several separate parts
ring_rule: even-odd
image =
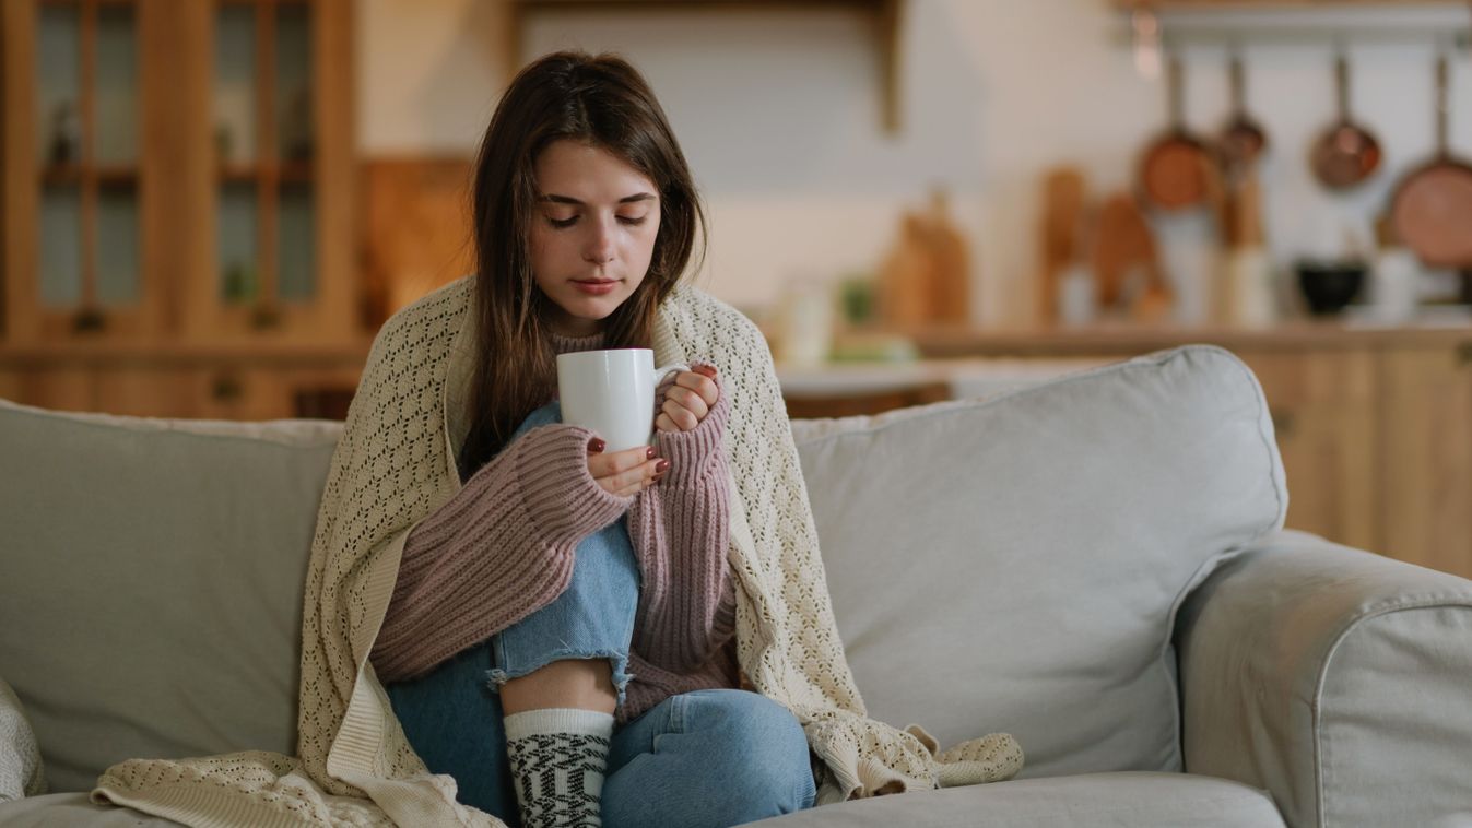
[[[602,825],[599,803],[614,718],[552,707],[505,718],[523,828]]]

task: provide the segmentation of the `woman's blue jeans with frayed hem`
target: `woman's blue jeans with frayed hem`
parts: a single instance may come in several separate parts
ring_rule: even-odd
[[[517,432],[556,422],[553,403]],[[424,763],[449,774],[459,802],[518,825],[498,688],[559,659],[609,659],[620,704],[639,602],[624,521],[577,547],[552,603],[439,665],[386,687]],[[807,738],[782,704],[740,690],[671,696],[615,728],[602,794],[606,828],[727,827],[811,807]]]

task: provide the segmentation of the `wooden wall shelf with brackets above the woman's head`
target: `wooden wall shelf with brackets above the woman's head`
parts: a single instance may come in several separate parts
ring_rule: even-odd
[[[749,13],[771,9],[854,9],[873,25],[879,56],[880,125],[899,132],[899,37],[905,0],[514,0],[511,3],[506,76],[521,69],[521,31],[528,16],[543,13],[659,10],[670,13]]]

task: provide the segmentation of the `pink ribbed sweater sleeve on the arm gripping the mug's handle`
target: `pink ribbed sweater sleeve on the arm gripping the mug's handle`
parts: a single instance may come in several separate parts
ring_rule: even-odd
[[[726,396],[693,431],[659,432],[670,471],[634,497],[629,535],[643,585],[633,649],[667,671],[692,672],[736,634],[729,474],[721,438]]]

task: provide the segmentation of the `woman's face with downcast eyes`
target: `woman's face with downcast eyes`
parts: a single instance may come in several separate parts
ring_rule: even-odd
[[[534,169],[533,276],[559,310],[555,331],[595,334],[649,271],[659,191],[609,151],[570,140],[549,144]]]

